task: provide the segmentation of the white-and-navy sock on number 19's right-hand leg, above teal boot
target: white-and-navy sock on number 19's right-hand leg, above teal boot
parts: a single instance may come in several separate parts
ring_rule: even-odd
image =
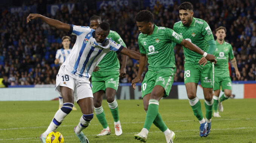
[[[93,113],[88,115],[83,114],[83,116],[80,118],[80,122],[76,127],[75,133],[80,134],[83,129],[89,126],[89,123],[91,122],[92,119],[93,119]]]

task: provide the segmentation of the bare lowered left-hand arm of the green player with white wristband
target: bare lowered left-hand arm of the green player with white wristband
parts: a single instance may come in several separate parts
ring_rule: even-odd
[[[133,89],[135,89],[136,83],[140,81],[140,77],[147,63],[147,55],[140,53],[140,61],[139,61],[139,71],[136,78],[131,81],[131,85]]]

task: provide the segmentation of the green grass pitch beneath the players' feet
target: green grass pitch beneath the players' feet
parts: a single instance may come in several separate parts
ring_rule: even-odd
[[[119,118],[123,134],[114,134],[114,120],[106,100],[103,108],[111,134],[97,137],[102,126],[96,115],[91,125],[83,130],[90,143],[139,143],[134,134],[140,132],[145,121],[142,100],[118,100]],[[205,116],[204,100],[200,100]],[[199,136],[199,122],[194,117],[188,100],[161,99],[159,112],[168,128],[175,132],[177,143],[256,143],[256,99],[228,99],[223,102],[221,117],[213,117],[211,133]],[[0,143],[39,143],[44,132],[58,110],[59,101],[5,101],[0,102]],[[73,128],[82,113],[77,111],[65,118],[57,131],[64,136],[65,143],[79,143]],[[166,142],[164,134],[152,125],[147,143]]]

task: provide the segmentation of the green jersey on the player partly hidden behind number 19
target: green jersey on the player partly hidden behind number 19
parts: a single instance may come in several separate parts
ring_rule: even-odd
[[[112,40],[117,42],[117,44],[121,44],[123,45],[123,47],[126,47],[125,43],[123,42],[123,39],[115,31],[110,30],[108,38],[112,38]],[[102,71],[102,72],[108,72],[108,71],[119,72],[120,64],[117,58],[117,53],[114,51],[108,52],[97,66],[99,66],[100,68],[99,71]],[[92,76],[94,76],[94,72]]]

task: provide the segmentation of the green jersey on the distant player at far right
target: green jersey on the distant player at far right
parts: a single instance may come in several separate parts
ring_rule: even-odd
[[[214,64],[214,77],[229,77],[228,58],[234,58],[232,46],[225,41],[223,44],[219,44],[217,40],[215,42],[217,48],[214,51],[214,56],[217,63]]]

